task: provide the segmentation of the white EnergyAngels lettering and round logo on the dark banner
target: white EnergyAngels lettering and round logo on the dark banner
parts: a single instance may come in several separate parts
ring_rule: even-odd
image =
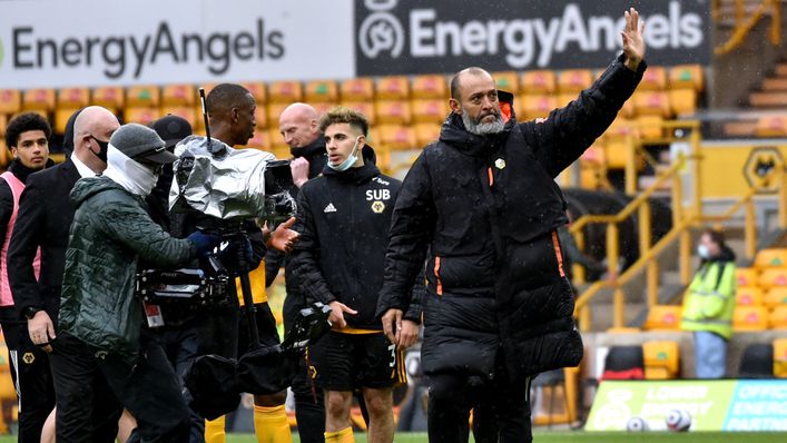
[[[580,3],[568,3],[560,17],[550,19],[498,19],[459,22],[441,20],[439,9],[412,9],[407,27],[392,12],[397,0],[365,0],[371,12],[358,28],[358,46],[370,59],[381,53],[403,56],[406,45],[413,58],[445,56],[493,56],[505,53],[512,68],[533,62],[550,65],[553,55],[574,50],[614,51],[621,47],[620,31],[626,19],[582,13]],[[643,17],[648,23],[645,39],[649,49],[690,49],[704,42],[702,18],[681,11],[679,1],[668,3],[666,13]],[[404,55],[406,56],[406,55]]]

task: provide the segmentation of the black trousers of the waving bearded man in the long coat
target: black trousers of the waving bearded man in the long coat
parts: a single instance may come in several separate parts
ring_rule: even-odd
[[[479,414],[476,441],[532,442],[530,381],[511,381],[499,370],[494,381],[452,372],[429,375],[430,443],[466,443],[471,408]]]

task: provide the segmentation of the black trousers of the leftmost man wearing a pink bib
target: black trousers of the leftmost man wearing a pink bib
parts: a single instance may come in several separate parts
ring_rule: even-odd
[[[49,354],[30,341],[27,322],[3,322],[2,332],[19,398],[18,441],[39,443],[43,423],[55,407]]]

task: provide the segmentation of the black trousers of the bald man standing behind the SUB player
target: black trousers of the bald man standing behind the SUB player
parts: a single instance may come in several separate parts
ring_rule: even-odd
[[[291,296],[284,299],[284,331],[289,332],[298,311],[304,307],[301,298]],[[325,441],[325,401],[323,390],[317,388],[312,378],[311,357],[306,354],[301,358],[298,374],[293,381],[295,396],[295,419],[298,422],[298,435],[303,443],[322,443]]]

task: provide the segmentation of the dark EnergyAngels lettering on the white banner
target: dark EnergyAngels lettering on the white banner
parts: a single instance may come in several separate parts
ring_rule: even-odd
[[[257,18],[252,29],[175,33],[161,21],[148,35],[105,35],[53,38],[32,26],[11,29],[8,59],[14,70],[97,67],[109,79],[139,78],[157,62],[204,65],[220,76],[236,61],[278,60],[285,55],[284,32],[266,29]],[[3,47],[0,41],[0,67]]]

